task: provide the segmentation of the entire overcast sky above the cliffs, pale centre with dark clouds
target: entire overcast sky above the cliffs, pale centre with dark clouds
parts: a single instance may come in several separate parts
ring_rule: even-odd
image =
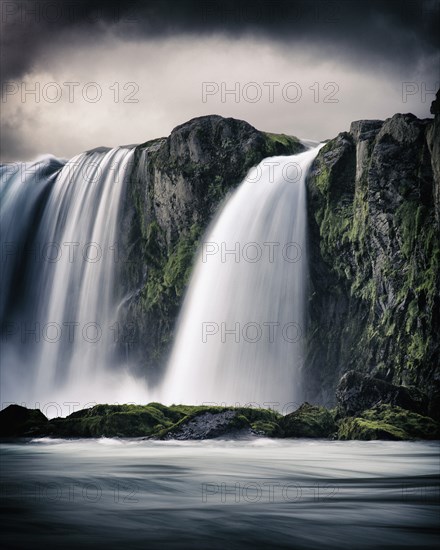
[[[429,117],[439,17],[438,0],[2,0],[2,160],[141,143],[212,113],[318,140]]]

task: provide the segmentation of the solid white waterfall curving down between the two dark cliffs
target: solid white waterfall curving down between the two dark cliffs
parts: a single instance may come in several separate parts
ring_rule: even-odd
[[[201,246],[158,398],[164,403],[301,401],[307,296],[307,170],[320,147],[265,159]]]

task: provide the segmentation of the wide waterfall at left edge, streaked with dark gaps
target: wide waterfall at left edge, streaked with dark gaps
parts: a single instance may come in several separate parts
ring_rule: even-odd
[[[118,216],[132,156],[97,149],[68,162],[1,166],[2,403],[56,400],[53,416],[66,401],[135,399],[124,365],[110,368]]]

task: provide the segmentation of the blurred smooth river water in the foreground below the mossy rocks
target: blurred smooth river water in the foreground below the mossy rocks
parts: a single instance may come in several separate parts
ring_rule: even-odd
[[[436,442],[3,443],[5,548],[435,548]]]

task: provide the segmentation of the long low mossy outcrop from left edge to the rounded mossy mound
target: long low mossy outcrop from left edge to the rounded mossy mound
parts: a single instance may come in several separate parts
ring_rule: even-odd
[[[247,407],[208,407],[160,403],[95,405],[66,418],[48,420],[38,409],[10,405],[0,411],[0,437],[146,437],[212,439],[279,435],[275,411]]]

